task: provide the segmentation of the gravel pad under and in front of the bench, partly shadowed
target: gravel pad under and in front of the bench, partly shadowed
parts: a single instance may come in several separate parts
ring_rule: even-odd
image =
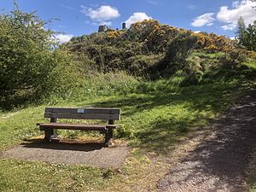
[[[101,143],[44,143],[42,139],[38,139],[10,148],[0,158],[119,168],[125,163],[128,154],[125,144],[104,148]]]

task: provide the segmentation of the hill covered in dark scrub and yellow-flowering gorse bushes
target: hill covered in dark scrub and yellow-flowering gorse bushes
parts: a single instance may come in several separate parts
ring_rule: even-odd
[[[213,74],[225,79],[246,73],[248,68],[241,63],[255,57],[230,38],[177,29],[157,20],[137,22],[128,30],[74,37],[64,46],[84,63],[86,72],[125,71],[144,80],[178,73],[183,79],[180,85],[207,82]]]

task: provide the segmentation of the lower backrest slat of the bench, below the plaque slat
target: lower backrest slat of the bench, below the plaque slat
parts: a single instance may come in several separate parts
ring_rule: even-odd
[[[44,118],[119,120],[120,115],[119,114],[106,114],[106,113],[44,113]]]

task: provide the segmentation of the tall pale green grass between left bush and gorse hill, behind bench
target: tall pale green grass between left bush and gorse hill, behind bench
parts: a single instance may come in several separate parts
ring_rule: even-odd
[[[74,98],[84,100],[84,98],[92,99],[99,96],[124,95],[132,92],[137,87],[137,84],[142,81],[142,79],[125,72],[90,72],[83,75],[84,79],[79,82],[79,86],[71,88],[69,91],[64,89],[59,93],[52,93],[45,98],[45,102],[53,105],[60,101],[70,101]]]

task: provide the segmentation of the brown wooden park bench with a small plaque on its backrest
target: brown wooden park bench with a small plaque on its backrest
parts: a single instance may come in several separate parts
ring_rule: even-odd
[[[81,130],[101,131],[105,134],[105,145],[108,146],[113,138],[115,120],[120,119],[119,108],[45,108],[44,118],[50,118],[50,123],[37,124],[44,131],[44,140],[50,142],[55,135],[55,130]],[[57,119],[101,119],[108,120],[106,125],[89,125],[77,123],[57,123]]]

